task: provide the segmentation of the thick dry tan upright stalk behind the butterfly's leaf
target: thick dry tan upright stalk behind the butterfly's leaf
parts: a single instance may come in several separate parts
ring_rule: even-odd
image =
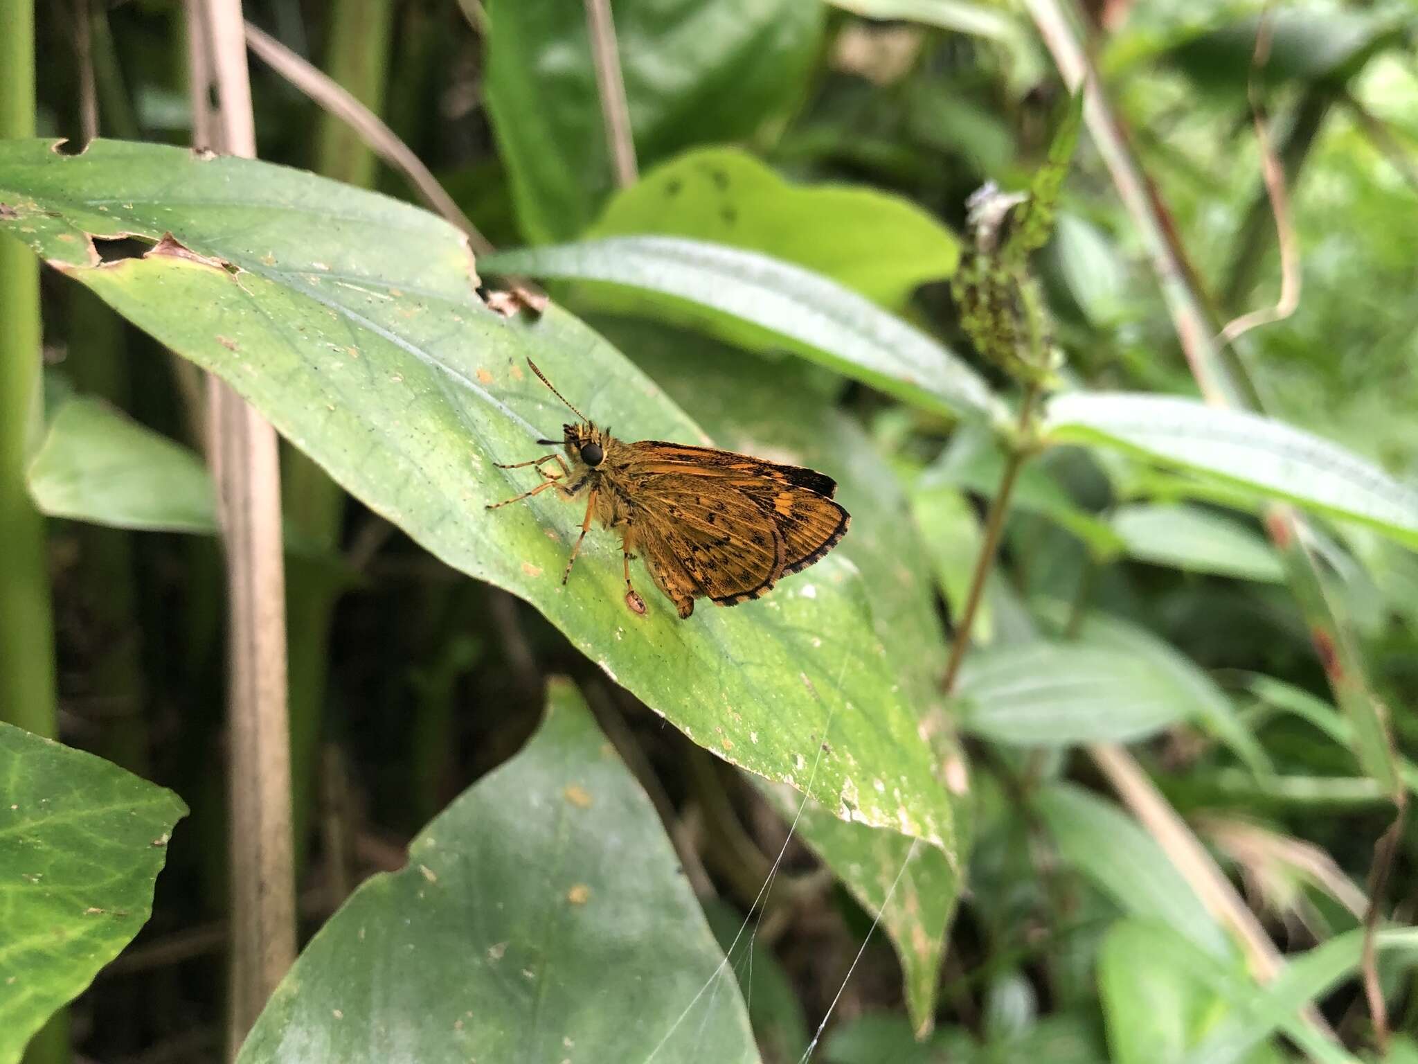
[[[241,0],[196,0],[217,87],[213,146],[254,159],[255,119]],[[196,92],[204,87],[194,81]],[[227,1046],[235,1054],[295,962],[285,569],[275,430],[208,377],[208,453],[227,562],[231,804],[231,979]]]

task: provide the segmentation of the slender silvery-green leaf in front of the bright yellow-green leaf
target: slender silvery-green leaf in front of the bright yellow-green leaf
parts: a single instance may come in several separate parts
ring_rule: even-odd
[[[973,417],[997,409],[984,380],[936,340],[855,292],[767,255],[679,237],[608,237],[503,251],[484,265],[675,297],[757,325],[793,350],[910,403]],[[645,309],[654,314],[655,305]]]

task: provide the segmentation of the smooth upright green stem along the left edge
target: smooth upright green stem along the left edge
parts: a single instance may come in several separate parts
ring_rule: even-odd
[[[0,139],[34,136],[34,4],[0,4]],[[58,733],[54,613],[44,518],[24,487],[40,427],[40,267],[0,235],[0,718]],[[68,1013],[31,1040],[26,1064],[69,1060]]]

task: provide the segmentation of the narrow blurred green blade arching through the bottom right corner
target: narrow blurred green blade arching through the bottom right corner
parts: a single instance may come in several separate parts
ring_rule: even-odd
[[[1374,948],[1418,960],[1418,929],[1380,931]],[[1300,956],[1289,958],[1285,970],[1268,986],[1251,986],[1232,996],[1232,1012],[1221,1020],[1185,1058],[1185,1064],[1231,1064],[1244,1060],[1259,1041],[1286,1024],[1302,1007],[1317,1002],[1341,980],[1354,975],[1363,960],[1364,931],[1332,938]],[[1336,1054],[1353,1060],[1347,1054]]]

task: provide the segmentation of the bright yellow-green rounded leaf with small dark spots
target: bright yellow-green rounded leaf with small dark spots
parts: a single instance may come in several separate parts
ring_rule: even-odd
[[[761,251],[893,311],[960,260],[954,234],[910,200],[849,184],[790,184],[737,148],[702,148],[657,166],[617,193],[586,235],[640,234]]]

